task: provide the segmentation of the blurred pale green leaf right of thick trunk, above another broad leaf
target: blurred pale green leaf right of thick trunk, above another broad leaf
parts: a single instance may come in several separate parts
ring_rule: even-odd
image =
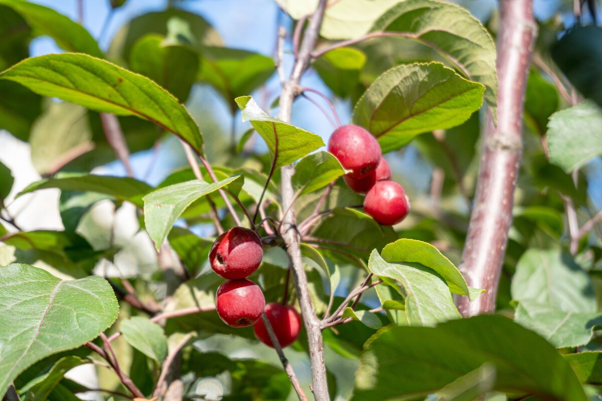
[[[559,249],[528,249],[523,254],[512,278],[512,299],[574,313],[597,309],[588,273]]]

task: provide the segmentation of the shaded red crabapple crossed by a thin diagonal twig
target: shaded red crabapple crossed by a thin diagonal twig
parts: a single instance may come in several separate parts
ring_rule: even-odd
[[[267,319],[270,320],[274,334],[276,334],[282,348],[295,342],[301,330],[301,316],[294,307],[285,306],[278,302],[270,302],[265,305],[265,314]],[[274,347],[262,319],[255,323],[253,332],[259,341],[267,346]]]

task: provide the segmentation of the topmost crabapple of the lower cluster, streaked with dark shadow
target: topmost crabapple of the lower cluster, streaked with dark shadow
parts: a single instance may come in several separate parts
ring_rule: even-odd
[[[230,228],[217,237],[209,251],[213,271],[229,280],[249,277],[261,265],[262,257],[261,239],[244,227]]]

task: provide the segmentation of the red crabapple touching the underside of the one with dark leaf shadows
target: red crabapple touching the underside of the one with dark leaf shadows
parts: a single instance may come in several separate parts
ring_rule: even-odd
[[[265,298],[253,281],[228,280],[216,293],[217,314],[224,323],[232,327],[247,327],[261,317]]]

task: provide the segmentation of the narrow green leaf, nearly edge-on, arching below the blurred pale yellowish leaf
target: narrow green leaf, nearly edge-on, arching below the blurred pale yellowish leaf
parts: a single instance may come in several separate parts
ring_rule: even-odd
[[[110,195],[118,200],[142,206],[142,197],[152,190],[147,183],[129,177],[94,176],[73,174],[61,178],[49,178],[34,182],[23,189],[17,197],[39,189],[58,188],[67,191],[89,191]]]

